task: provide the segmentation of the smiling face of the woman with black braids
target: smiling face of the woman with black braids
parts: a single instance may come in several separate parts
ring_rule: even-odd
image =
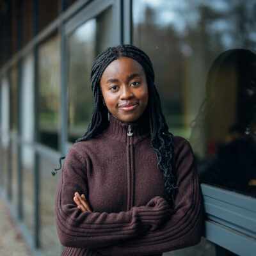
[[[132,58],[112,61],[100,79],[109,112],[123,122],[134,122],[148,104],[148,85],[143,67]]]

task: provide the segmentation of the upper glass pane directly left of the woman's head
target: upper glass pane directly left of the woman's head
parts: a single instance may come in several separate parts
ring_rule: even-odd
[[[68,140],[83,136],[92,115],[90,72],[97,54],[111,46],[111,8],[68,36]]]

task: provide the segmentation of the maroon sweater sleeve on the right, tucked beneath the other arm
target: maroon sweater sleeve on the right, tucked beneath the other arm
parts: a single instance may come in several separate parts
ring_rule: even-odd
[[[200,242],[203,225],[202,196],[192,149],[186,141],[175,160],[178,191],[172,217],[156,230],[136,239],[100,248],[103,255],[152,255]]]

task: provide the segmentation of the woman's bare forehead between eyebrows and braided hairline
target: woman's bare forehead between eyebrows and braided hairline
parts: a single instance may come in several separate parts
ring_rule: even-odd
[[[140,74],[145,76],[143,67],[138,63],[138,61],[122,57],[118,60],[114,60],[109,63],[108,67],[104,70],[101,79],[108,79],[109,77],[125,77],[131,76],[132,74]]]

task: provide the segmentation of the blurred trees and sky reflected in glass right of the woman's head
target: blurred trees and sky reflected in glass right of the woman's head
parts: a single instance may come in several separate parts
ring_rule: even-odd
[[[153,62],[168,124],[183,127],[198,113],[214,58],[229,48],[255,47],[256,3],[179,0],[168,7],[175,19],[165,23],[159,20],[170,2],[162,3],[147,4],[144,19],[134,24],[134,44]]]

